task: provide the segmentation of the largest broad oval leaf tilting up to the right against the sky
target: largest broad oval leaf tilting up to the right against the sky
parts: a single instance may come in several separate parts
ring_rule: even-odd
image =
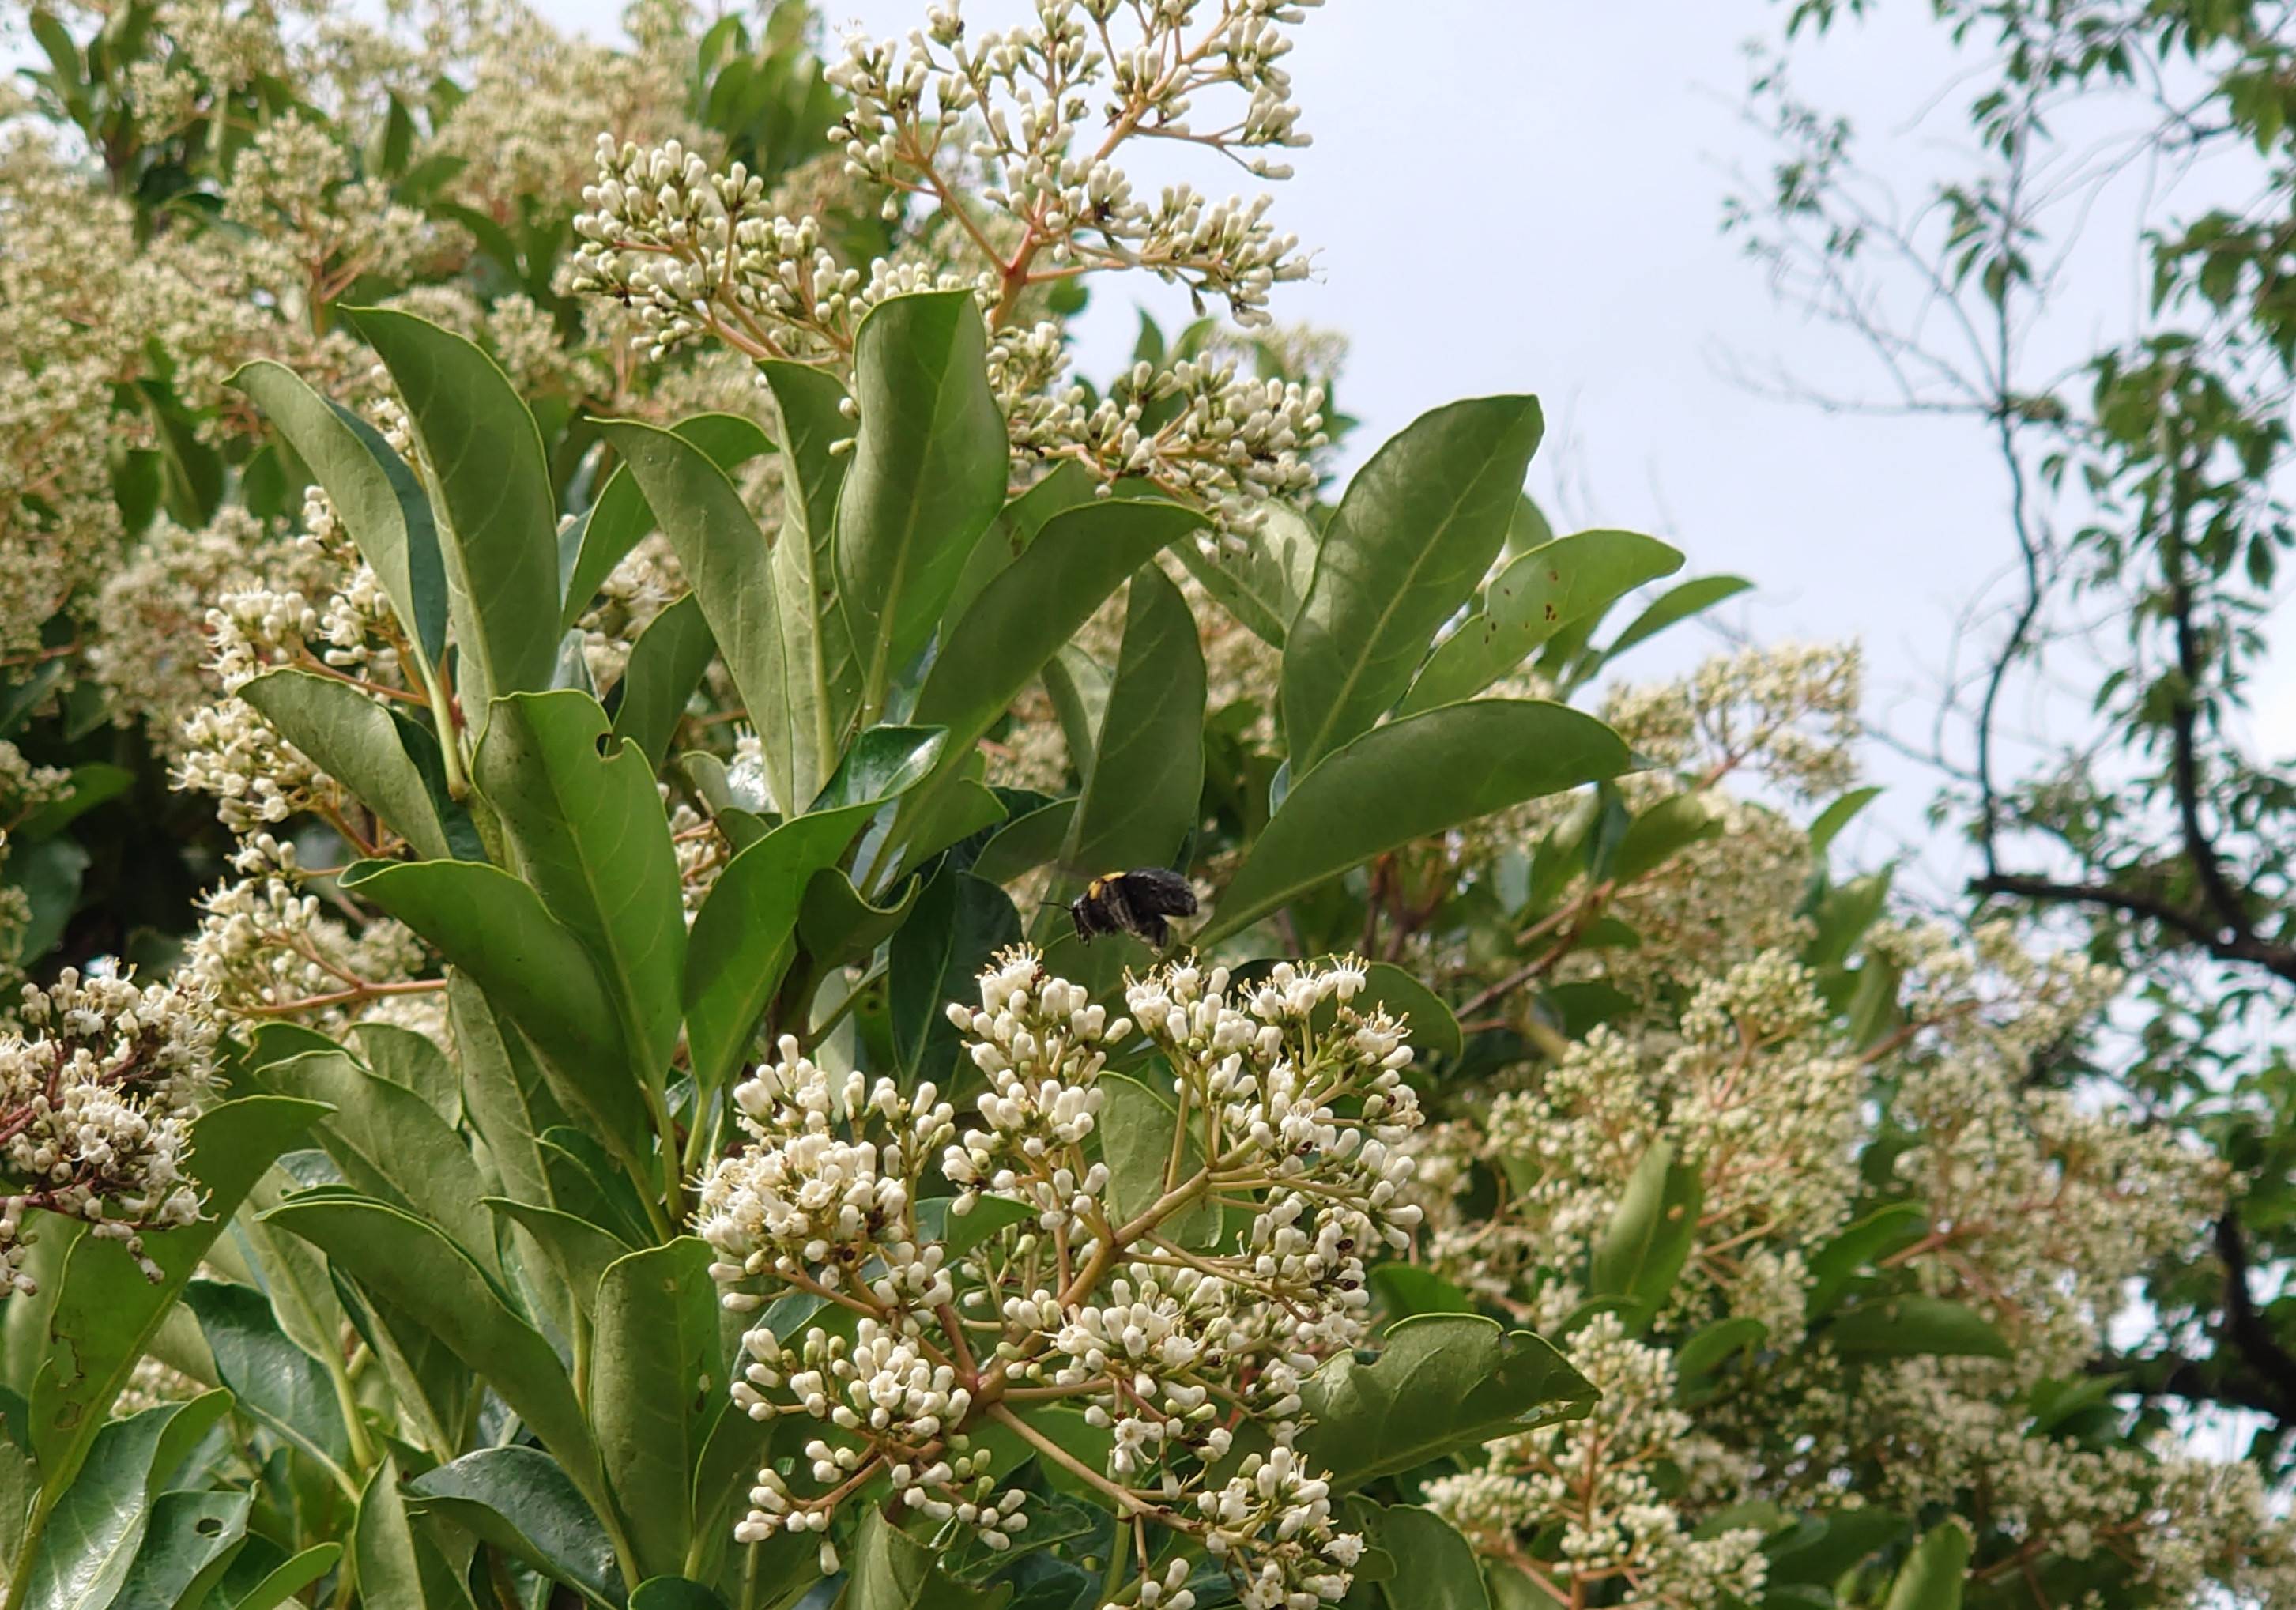
[[[1534,397],[1453,402],[1421,413],[1348,485],[1283,645],[1295,776],[1410,687],[1435,629],[1497,558],[1541,429]]]

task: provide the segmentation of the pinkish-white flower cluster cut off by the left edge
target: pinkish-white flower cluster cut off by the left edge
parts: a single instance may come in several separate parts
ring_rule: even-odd
[[[25,985],[0,1038],[0,1298],[37,1288],[23,1272],[34,1208],[124,1243],[158,1279],[142,1231],[200,1213],[184,1164],[214,1052],[209,1015],[174,983],[64,969]]]

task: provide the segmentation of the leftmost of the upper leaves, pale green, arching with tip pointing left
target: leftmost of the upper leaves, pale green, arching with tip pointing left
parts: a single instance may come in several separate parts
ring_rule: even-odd
[[[326,489],[335,519],[390,599],[390,613],[436,666],[445,652],[448,586],[422,482],[383,434],[328,402],[292,370],[257,361],[230,379],[278,427]]]

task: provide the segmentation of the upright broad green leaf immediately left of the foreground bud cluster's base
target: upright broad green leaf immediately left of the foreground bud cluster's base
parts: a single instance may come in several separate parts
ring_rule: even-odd
[[[709,1247],[687,1236],[613,1263],[597,1284],[588,1403],[641,1576],[677,1571],[693,1543],[693,1470],[723,1394]]]

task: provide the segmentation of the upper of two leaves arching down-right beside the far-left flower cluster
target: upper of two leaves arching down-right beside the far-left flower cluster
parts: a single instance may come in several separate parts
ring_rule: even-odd
[[[262,1077],[280,1096],[335,1109],[317,1123],[317,1137],[354,1190],[429,1220],[487,1275],[503,1277],[494,1220],[478,1201],[487,1181],[427,1100],[367,1073],[347,1052],[305,1052],[264,1068]]]

